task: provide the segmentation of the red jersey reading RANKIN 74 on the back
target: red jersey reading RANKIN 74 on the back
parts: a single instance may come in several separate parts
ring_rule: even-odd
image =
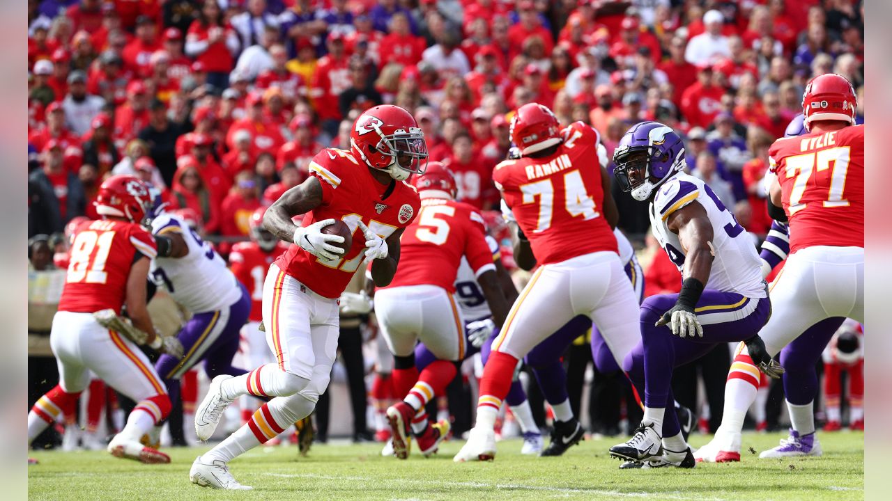
[[[566,141],[551,155],[505,160],[492,173],[543,265],[600,250],[617,252],[613,230],[599,211],[604,190],[598,132],[582,122],[567,129]]]

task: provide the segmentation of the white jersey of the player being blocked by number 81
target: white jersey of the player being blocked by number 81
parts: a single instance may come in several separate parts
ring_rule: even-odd
[[[164,287],[173,300],[192,313],[204,313],[228,308],[241,299],[242,290],[226,261],[202,242],[181,218],[162,214],[152,221],[152,234],[178,233],[183,235],[189,253],[182,258],[152,259],[150,271],[153,282]]]

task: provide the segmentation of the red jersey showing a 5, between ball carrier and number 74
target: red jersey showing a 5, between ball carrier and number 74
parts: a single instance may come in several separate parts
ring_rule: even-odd
[[[402,234],[400,267],[388,287],[436,285],[451,294],[462,256],[475,276],[495,269],[483,218],[467,203],[426,198],[415,222]]]

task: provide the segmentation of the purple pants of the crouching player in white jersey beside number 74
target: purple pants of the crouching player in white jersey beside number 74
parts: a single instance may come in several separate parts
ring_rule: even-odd
[[[678,294],[658,294],[644,300],[640,315],[641,342],[624,360],[624,370],[638,393],[644,395],[645,407],[673,408],[675,398],[670,382],[674,367],[702,357],[720,343],[753,337],[768,322],[772,311],[768,298],[750,299],[734,292],[707,289],[697,303],[703,337],[695,334],[682,339],[673,335],[668,324],[655,325],[675,306],[676,300]],[[665,413],[663,436],[673,437],[680,431],[675,413]]]

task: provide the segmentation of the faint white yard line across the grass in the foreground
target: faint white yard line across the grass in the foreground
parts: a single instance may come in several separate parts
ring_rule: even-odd
[[[436,487],[472,487],[472,488],[489,488],[489,489],[512,489],[512,490],[531,490],[541,492],[554,492],[555,494],[588,494],[610,497],[660,497],[662,499],[679,499],[685,501],[726,501],[722,497],[690,497],[690,496],[673,496],[671,494],[660,493],[658,495],[652,492],[620,492],[617,490],[605,489],[573,489],[560,488],[539,485],[524,485],[514,483],[488,483],[488,482],[459,482],[447,480],[424,480],[424,479],[378,479],[370,477],[343,477],[338,475],[322,475],[318,473],[277,473],[267,472],[264,475],[278,478],[291,479],[318,479],[318,480],[359,480],[375,482],[379,485],[382,481],[388,483],[410,484],[410,485],[431,485]]]

